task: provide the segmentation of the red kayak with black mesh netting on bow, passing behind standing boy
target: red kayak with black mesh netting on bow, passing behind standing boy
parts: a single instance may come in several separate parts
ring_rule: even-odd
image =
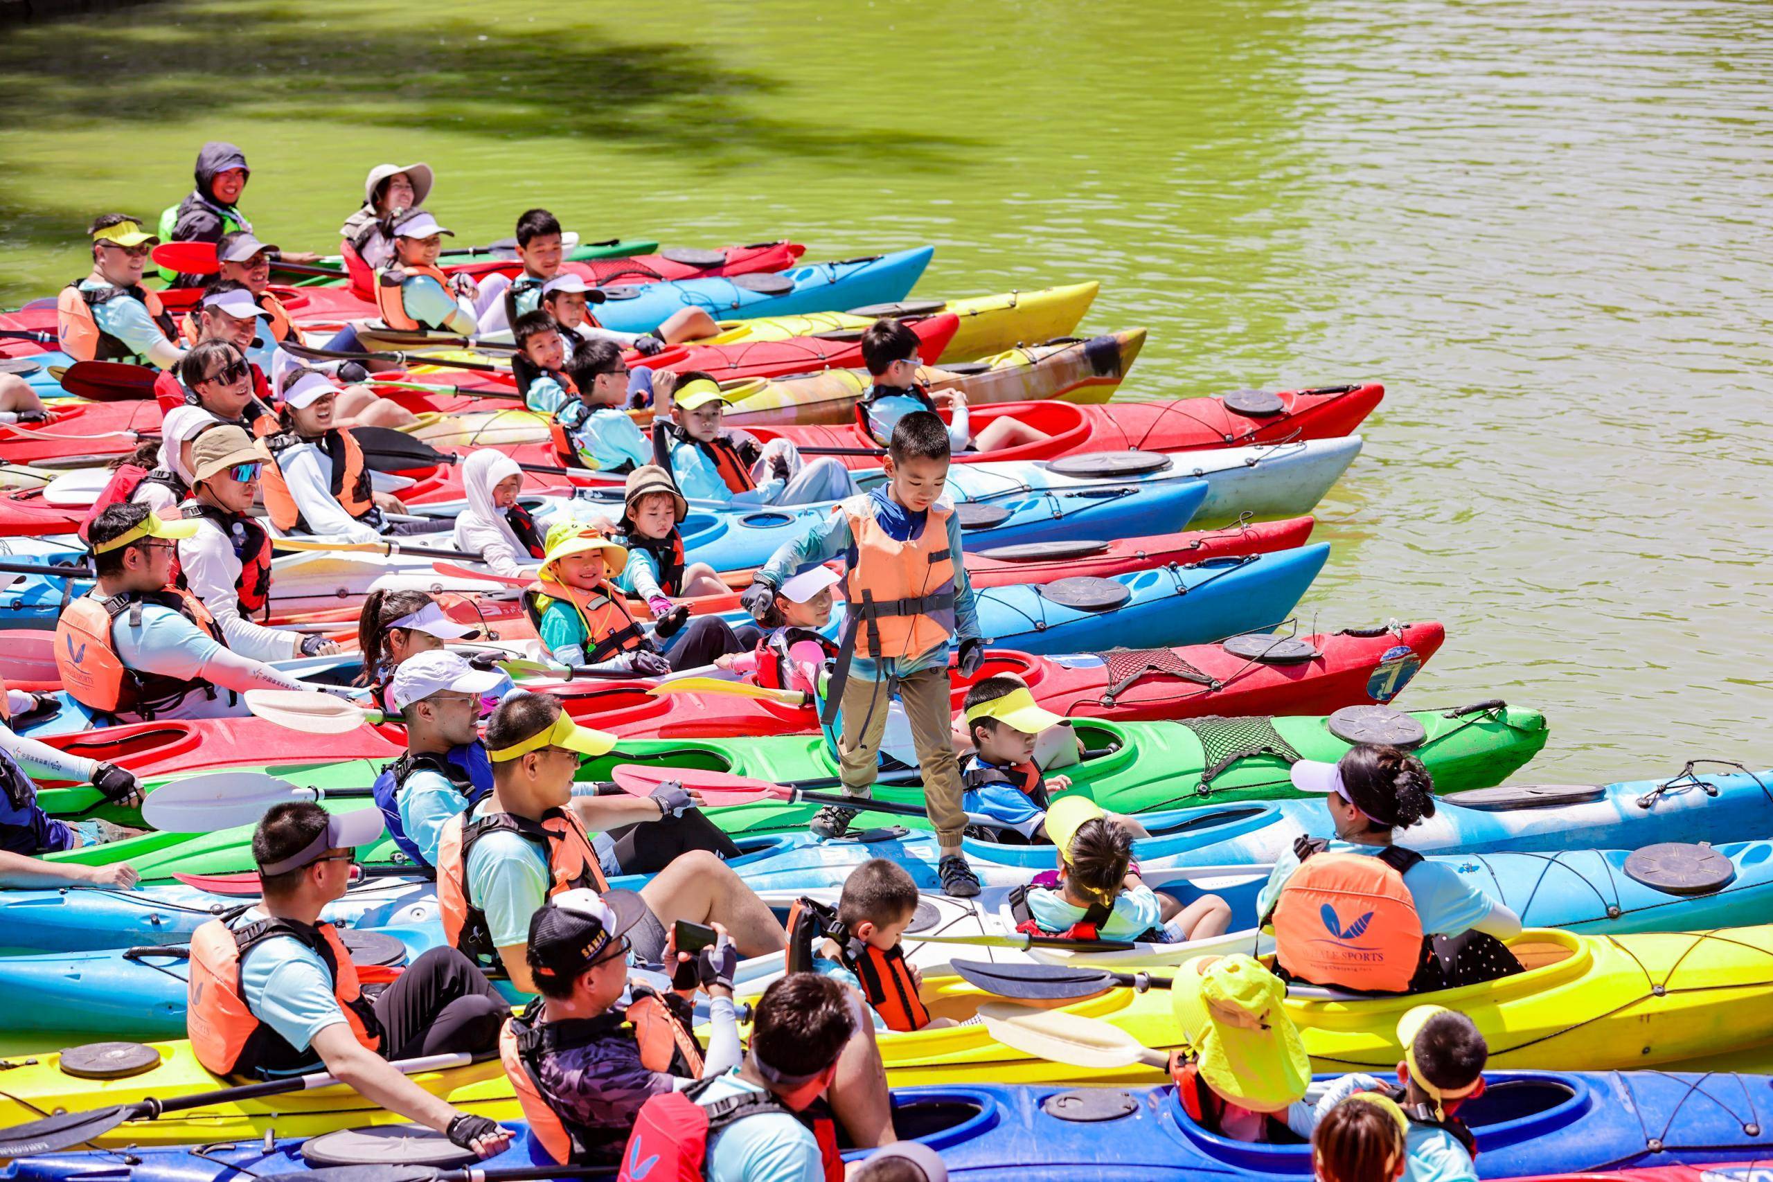
[[[1445,638],[1447,631],[1436,622],[1346,629],[1296,638],[1310,654],[1285,661],[1238,656],[1225,645],[1067,657],[991,650],[979,677],[1016,673],[1041,705],[1066,718],[1163,721],[1206,714],[1330,714],[1344,705],[1390,702]],[[966,686],[954,677],[956,711]],[[621,737],[730,739],[817,728],[812,707],[739,695],[651,695],[637,682],[569,682],[551,689],[587,727]],[[271,766],[273,774],[287,774],[289,766],[300,764],[392,760],[404,743],[401,728],[390,725],[310,735],[259,718],[133,723],[43,741],[110,760],[144,778],[239,766]]]

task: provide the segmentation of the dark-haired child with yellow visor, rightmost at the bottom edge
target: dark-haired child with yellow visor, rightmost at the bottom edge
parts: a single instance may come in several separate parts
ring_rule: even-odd
[[[1395,1085],[1363,1072],[1342,1076],[1324,1088],[1308,1124],[1289,1124],[1305,1136],[1344,1100],[1385,1099],[1406,1122],[1408,1182],[1475,1182],[1477,1139],[1457,1113],[1461,1104],[1484,1095],[1489,1044],[1470,1017],[1438,1005],[1418,1005],[1404,1014],[1397,1023],[1397,1044],[1404,1058],[1397,1063]]]

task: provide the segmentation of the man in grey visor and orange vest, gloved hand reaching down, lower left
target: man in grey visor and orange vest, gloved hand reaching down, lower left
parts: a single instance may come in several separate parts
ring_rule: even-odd
[[[388,1061],[489,1051],[507,1003],[454,948],[431,948],[371,1001],[344,941],[321,921],[351,884],[356,847],[379,836],[374,808],[328,813],[294,801],[264,813],[252,835],[262,904],[191,936],[191,1051],[218,1076],[324,1063],[372,1106],[489,1157],[511,1141],[509,1129],[452,1108]]]

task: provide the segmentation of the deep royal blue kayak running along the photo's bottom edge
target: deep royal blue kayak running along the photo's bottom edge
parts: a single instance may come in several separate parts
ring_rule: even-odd
[[[1321,1076],[1319,1085],[1328,1079]],[[1484,1178],[1649,1163],[1723,1163],[1773,1148],[1773,1079],[1768,1076],[1495,1070],[1486,1072],[1486,1083],[1484,1095],[1459,1109],[1477,1138],[1475,1164]],[[509,1124],[519,1136],[504,1154],[454,1164],[495,1171],[550,1164],[523,1122]],[[1312,1177],[1312,1152],[1303,1139],[1252,1145],[1215,1136],[1183,1111],[1168,1085],[1076,1092],[1055,1085],[895,1088],[894,1125],[899,1136],[934,1148],[950,1177],[977,1182]],[[351,1161],[326,1148],[314,1145],[309,1152],[326,1164]],[[239,1182],[312,1170],[301,1150],[296,1139],[273,1145],[254,1139],[200,1150],[131,1147],[128,1154],[43,1154],[11,1163],[0,1178]],[[847,1159],[863,1155],[846,1154]]]

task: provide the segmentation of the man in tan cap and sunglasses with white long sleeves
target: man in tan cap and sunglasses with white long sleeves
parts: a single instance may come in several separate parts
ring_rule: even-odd
[[[215,617],[227,647],[257,661],[339,652],[319,633],[266,627],[271,613],[271,535],[252,519],[264,455],[239,427],[215,427],[191,445],[195,484],[183,516],[197,532],[179,542],[174,581]]]

